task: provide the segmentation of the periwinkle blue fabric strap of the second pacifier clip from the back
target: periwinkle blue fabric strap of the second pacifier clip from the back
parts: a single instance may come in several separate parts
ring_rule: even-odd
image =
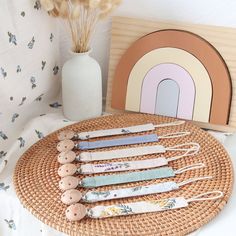
[[[81,150],[88,150],[88,149],[95,149],[95,148],[151,143],[151,142],[157,142],[157,141],[158,141],[158,136],[156,134],[149,134],[149,135],[139,135],[139,136],[110,139],[110,140],[92,141],[92,142],[83,141],[83,142],[79,142],[75,146],[76,148],[79,148]]]

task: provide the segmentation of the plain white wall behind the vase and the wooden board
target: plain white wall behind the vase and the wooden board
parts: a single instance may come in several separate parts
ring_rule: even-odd
[[[183,21],[236,28],[236,0],[123,0],[114,15]],[[93,38],[93,56],[103,70],[106,96],[111,19],[101,22]]]

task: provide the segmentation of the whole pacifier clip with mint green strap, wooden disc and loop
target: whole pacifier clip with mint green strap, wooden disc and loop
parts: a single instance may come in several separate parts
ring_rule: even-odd
[[[79,178],[75,176],[66,176],[60,180],[59,188],[62,191],[66,191],[68,189],[74,189],[77,187],[96,188],[106,185],[132,183],[132,182],[160,179],[160,178],[169,178],[169,177],[174,177],[176,174],[181,174],[189,170],[200,169],[203,167],[205,167],[203,163],[196,163],[185,166],[178,170],[173,170],[172,167],[162,167],[145,171],[130,172],[125,174],[86,177],[83,178],[81,181],[79,180]]]

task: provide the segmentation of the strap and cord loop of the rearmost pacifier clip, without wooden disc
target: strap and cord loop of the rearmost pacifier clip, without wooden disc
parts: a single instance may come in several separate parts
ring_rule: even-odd
[[[135,126],[129,126],[129,127],[124,127],[124,128],[81,132],[81,133],[78,133],[76,136],[78,139],[86,140],[89,138],[99,138],[99,137],[105,137],[105,136],[152,131],[152,130],[155,130],[155,128],[177,126],[177,125],[182,125],[184,123],[185,123],[185,121],[174,121],[174,122],[157,124],[157,125],[153,125],[152,123],[148,123],[148,124],[135,125]]]

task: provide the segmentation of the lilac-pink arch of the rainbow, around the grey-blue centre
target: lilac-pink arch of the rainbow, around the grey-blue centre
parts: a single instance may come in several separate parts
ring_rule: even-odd
[[[142,85],[140,111],[155,113],[157,88],[164,79],[172,79],[180,87],[177,117],[192,120],[195,99],[194,81],[184,68],[171,63],[159,64],[146,74]]]

